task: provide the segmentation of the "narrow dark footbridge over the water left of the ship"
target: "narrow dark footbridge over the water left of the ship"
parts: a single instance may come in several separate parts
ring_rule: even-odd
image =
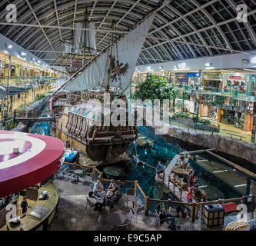
[[[42,122],[42,121],[55,121],[55,117],[41,117],[40,111],[14,111],[14,122]]]

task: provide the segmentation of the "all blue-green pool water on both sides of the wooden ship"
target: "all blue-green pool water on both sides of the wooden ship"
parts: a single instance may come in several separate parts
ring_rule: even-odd
[[[42,116],[48,116],[48,107],[42,111]],[[49,135],[50,134],[50,125],[49,122],[38,122],[32,126],[32,133],[37,133],[40,135]],[[161,135],[155,135],[154,131],[147,127],[139,128],[139,137],[145,139],[145,141],[153,142],[154,148],[140,148],[136,145],[135,142],[132,142],[129,145],[126,153],[132,158],[136,153],[139,155],[141,161],[145,161],[146,165],[143,167],[141,165],[136,166],[135,164],[130,164],[125,167],[124,174],[120,177],[121,180],[137,180],[140,184],[142,190],[150,198],[156,199],[175,199],[168,193],[167,189],[162,185],[158,184],[155,181],[155,167],[157,166],[158,161],[160,160],[163,165],[168,165],[170,161],[179,154],[181,151],[192,151],[196,148],[194,146],[186,145],[184,143],[167,139]],[[210,156],[202,155],[206,159],[214,159]],[[216,159],[214,160],[216,161]],[[221,161],[218,161],[221,163]],[[198,178],[198,186],[203,186],[205,188],[208,200],[216,200],[218,198],[237,198],[245,195],[244,192],[237,191],[230,185],[226,184],[224,181],[221,181],[216,176],[211,174],[209,171],[205,170],[198,162],[190,161],[191,167],[194,168],[194,174]],[[124,166],[123,164],[121,164]],[[224,169],[228,169],[228,172],[232,172],[234,169],[221,163]],[[240,174],[243,177],[246,177],[244,174]],[[107,184],[106,184],[107,185]],[[126,188],[134,188],[132,184],[127,184],[125,187],[121,187],[121,192],[125,193]],[[141,201],[144,201],[141,192],[138,191],[138,196],[141,198]],[[155,211],[156,204],[150,203],[149,209]]]

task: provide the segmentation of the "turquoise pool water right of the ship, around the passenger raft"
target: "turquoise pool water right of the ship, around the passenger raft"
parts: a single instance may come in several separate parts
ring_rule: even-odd
[[[166,142],[167,139],[164,136],[155,135],[154,131],[146,127],[139,128],[139,138],[151,141],[154,148],[141,148],[139,145],[136,145],[135,148],[135,142],[131,143],[126,151],[128,155],[132,158],[137,152],[141,161],[145,161],[146,165],[145,167],[133,165],[122,179],[138,180],[142,190],[150,198],[166,199],[170,194],[167,194],[167,190],[162,184],[155,181],[155,167],[158,160],[163,165],[168,165],[176,154],[181,151],[192,151],[195,148],[189,145],[183,145],[181,148],[181,145],[175,141],[170,141],[170,139],[168,139],[169,142]],[[244,184],[247,184],[247,175],[208,155],[198,155],[198,160],[191,160],[191,167],[194,168],[194,173],[198,178],[199,188],[206,191],[209,201],[218,200],[218,198],[238,198],[246,195],[246,185]],[[204,161],[204,165],[202,161]],[[208,163],[210,163],[211,169],[206,165]],[[221,178],[221,172],[224,172],[224,178]],[[238,185],[233,185],[236,184],[238,178],[240,178]],[[254,184],[254,181],[252,181],[251,188],[254,188]],[[138,194],[142,199],[141,193],[138,192]],[[155,209],[155,207],[152,208],[152,205],[150,206],[151,210]]]

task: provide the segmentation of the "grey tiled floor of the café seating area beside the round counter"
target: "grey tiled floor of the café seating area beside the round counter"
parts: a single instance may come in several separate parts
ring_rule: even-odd
[[[107,223],[109,208],[105,211],[93,211],[91,208],[86,208],[86,195],[88,194],[89,187],[85,184],[72,184],[71,181],[58,180],[59,189],[59,203],[58,212],[55,219],[49,228],[51,231],[111,231],[114,228],[109,227]],[[131,204],[130,204],[131,205]],[[113,210],[115,211],[115,209]],[[112,211],[111,211],[112,212]],[[101,222],[98,218],[101,215]],[[225,218],[224,226],[229,222],[236,220],[235,216]],[[138,215],[138,219],[131,220],[131,231],[170,231],[168,224],[161,224],[160,228],[155,226],[155,215],[144,214]],[[200,219],[191,223],[190,218],[186,219],[186,226],[181,225],[178,230],[191,230],[191,231],[217,231],[222,228],[207,228],[202,224]]]

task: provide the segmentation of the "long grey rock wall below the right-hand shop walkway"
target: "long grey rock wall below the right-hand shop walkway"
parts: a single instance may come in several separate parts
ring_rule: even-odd
[[[243,158],[256,164],[256,146],[250,145],[244,141],[232,138],[225,138],[220,135],[207,135],[203,133],[186,131],[183,129],[169,127],[168,136],[186,141],[192,145],[198,145],[202,148],[216,148],[218,151],[237,158]]]

